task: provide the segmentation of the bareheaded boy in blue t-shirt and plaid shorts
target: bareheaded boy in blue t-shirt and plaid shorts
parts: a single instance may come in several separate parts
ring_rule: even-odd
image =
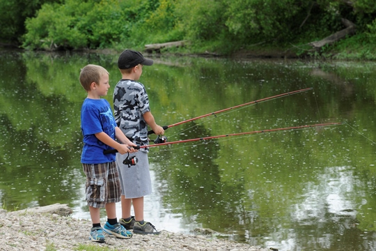
[[[131,238],[132,233],[116,218],[116,202],[120,201],[121,195],[116,154],[104,154],[103,151],[116,149],[120,154],[134,153],[132,146],[136,145],[116,126],[109,102],[100,98],[107,95],[110,87],[108,71],[102,66],[87,65],[81,69],[79,82],[88,93],[81,107],[84,135],[81,163],[86,174],[86,201],[93,222],[89,239],[103,243],[103,231],[118,238]],[[100,208],[106,208],[107,212],[103,229]]]

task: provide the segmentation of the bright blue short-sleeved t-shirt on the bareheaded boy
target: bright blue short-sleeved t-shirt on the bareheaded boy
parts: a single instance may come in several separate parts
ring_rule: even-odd
[[[91,98],[84,100],[81,107],[81,131],[84,135],[81,163],[100,164],[116,160],[115,153],[103,154],[104,150],[113,148],[95,137],[95,133],[105,132],[115,139],[115,128],[116,122],[107,100]]]

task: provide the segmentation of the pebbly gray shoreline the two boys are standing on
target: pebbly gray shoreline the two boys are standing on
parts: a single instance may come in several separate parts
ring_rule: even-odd
[[[216,238],[211,231],[208,231],[210,234],[182,234],[162,230],[159,235],[134,234],[125,240],[106,236],[105,243],[93,243],[88,240],[91,221],[72,218],[70,212],[68,206],[61,204],[13,212],[0,209],[0,250],[82,250],[80,245],[130,251],[269,250]]]

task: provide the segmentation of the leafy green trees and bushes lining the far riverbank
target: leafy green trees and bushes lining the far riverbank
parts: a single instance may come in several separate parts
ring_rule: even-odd
[[[344,29],[341,19],[357,27],[350,44],[376,38],[374,0],[26,2],[0,0],[0,39],[31,50],[142,48],[175,40],[189,40],[191,52],[296,48]]]

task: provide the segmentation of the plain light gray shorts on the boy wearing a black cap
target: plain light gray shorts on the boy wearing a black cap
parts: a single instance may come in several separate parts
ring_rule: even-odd
[[[136,156],[138,162],[136,165],[123,165],[123,160],[128,154],[121,155],[116,153],[116,165],[119,170],[121,195],[125,198],[139,198],[152,193],[152,185],[149,170],[148,153],[137,151],[130,153],[130,157]]]

